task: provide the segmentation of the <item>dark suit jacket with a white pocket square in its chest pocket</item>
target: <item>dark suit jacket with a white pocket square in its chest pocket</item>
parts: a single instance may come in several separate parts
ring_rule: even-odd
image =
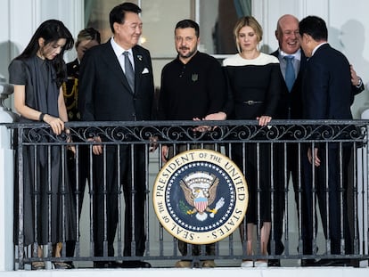
[[[152,60],[139,45],[132,48],[135,92],[111,46],[111,40],[86,51],[79,70],[79,110],[85,121],[135,121],[152,117]]]

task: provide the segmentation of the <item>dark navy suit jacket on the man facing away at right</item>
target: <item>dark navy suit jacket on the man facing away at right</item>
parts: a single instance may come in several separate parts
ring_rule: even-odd
[[[352,118],[354,92],[349,63],[330,45],[321,45],[309,58],[302,87],[305,118]]]

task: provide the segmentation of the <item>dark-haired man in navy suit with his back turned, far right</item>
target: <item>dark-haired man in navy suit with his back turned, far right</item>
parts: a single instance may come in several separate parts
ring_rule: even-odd
[[[350,64],[342,53],[327,43],[328,31],[324,20],[307,16],[299,22],[299,34],[301,47],[308,57],[302,81],[304,118],[352,119],[350,106],[355,92],[352,90]],[[331,253],[327,254],[349,254],[352,251],[347,213],[350,155],[351,147],[345,144],[340,148],[338,143],[316,143],[315,148],[309,148],[307,153],[309,162],[315,166],[316,179],[315,182],[305,183],[304,196],[311,219],[314,210],[312,191],[315,187],[324,235],[331,240]],[[308,221],[309,224],[312,222],[312,219]],[[310,232],[313,230],[310,225],[305,227]],[[340,251],[341,233],[346,248],[343,253]],[[339,265],[344,263],[342,260],[324,259],[322,265],[336,262]]]

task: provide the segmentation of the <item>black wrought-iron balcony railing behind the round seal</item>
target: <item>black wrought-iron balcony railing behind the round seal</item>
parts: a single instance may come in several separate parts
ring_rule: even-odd
[[[35,261],[92,266],[92,262],[144,259],[168,266],[168,260],[179,259],[193,263],[215,259],[225,265],[238,261],[240,265],[242,259],[369,257],[368,121],[275,120],[263,127],[256,121],[209,121],[208,131],[195,131],[200,124],[70,122],[66,124],[69,134],[61,135],[53,134],[45,124],[7,125],[13,133],[16,165],[16,267],[23,269]],[[96,145],[102,146],[98,160]],[[74,153],[70,146],[75,148]],[[244,220],[242,231],[217,241],[210,256],[205,256],[206,246],[202,245],[202,255],[193,256],[188,246],[187,256],[182,257],[176,239],[160,225],[152,208],[152,185],[164,164],[160,154],[163,147],[172,149],[172,155],[211,148],[240,167],[249,190],[253,187],[256,193],[249,193],[249,203],[257,215],[266,210],[266,218],[257,216],[254,220],[257,227],[252,256],[246,239],[250,224]],[[318,167],[308,162],[309,149],[318,149],[318,154],[311,152],[313,160],[320,159]],[[116,175],[110,175],[111,168]],[[114,183],[113,191],[108,188],[109,182]],[[135,183],[144,187],[137,189]],[[144,194],[141,208],[135,203],[140,199],[139,190]],[[265,192],[267,196],[262,196]],[[125,194],[126,198],[133,196],[133,201],[126,203]],[[335,203],[332,195],[336,196]],[[114,252],[109,226],[112,202],[117,220]],[[322,218],[321,212],[328,216]],[[129,218],[125,213],[132,221],[142,218],[142,224],[127,224],[125,229]],[[267,255],[262,251],[263,220],[271,222]],[[139,232],[146,234],[144,246],[135,241]],[[127,233],[131,236],[128,246],[124,243]],[[56,242],[61,257],[53,253]],[[41,248],[43,254],[39,255]]]

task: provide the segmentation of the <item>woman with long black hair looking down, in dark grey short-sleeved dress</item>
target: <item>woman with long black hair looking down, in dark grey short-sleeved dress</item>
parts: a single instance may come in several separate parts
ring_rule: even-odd
[[[61,85],[66,80],[67,71],[63,53],[72,46],[73,37],[64,24],[59,20],[46,20],[38,27],[23,53],[9,65],[14,107],[21,115],[20,121],[45,122],[52,129],[50,134],[46,134],[47,130],[40,132],[41,129],[26,131],[29,137],[35,132],[43,135],[42,142],[48,142],[48,137],[65,131],[64,122],[68,117]],[[23,232],[25,246],[37,248],[38,257],[42,257],[42,246],[49,243],[53,245],[53,256],[60,257],[61,241],[76,237],[70,183],[62,169],[63,146],[35,147],[24,146],[22,149],[23,228],[17,232]],[[16,222],[18,216],[16,214]],[[33,262],[32,265],[34,269],[45,268],[43,262]],[[53,265],[69,268],[68,264],[61,262]]]

